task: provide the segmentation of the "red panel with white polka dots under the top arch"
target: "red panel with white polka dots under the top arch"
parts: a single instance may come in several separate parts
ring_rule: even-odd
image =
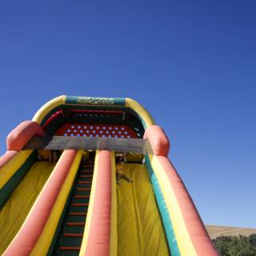
[[[66,123],[55,135],[89,138],[138,138],[129,126]]]

